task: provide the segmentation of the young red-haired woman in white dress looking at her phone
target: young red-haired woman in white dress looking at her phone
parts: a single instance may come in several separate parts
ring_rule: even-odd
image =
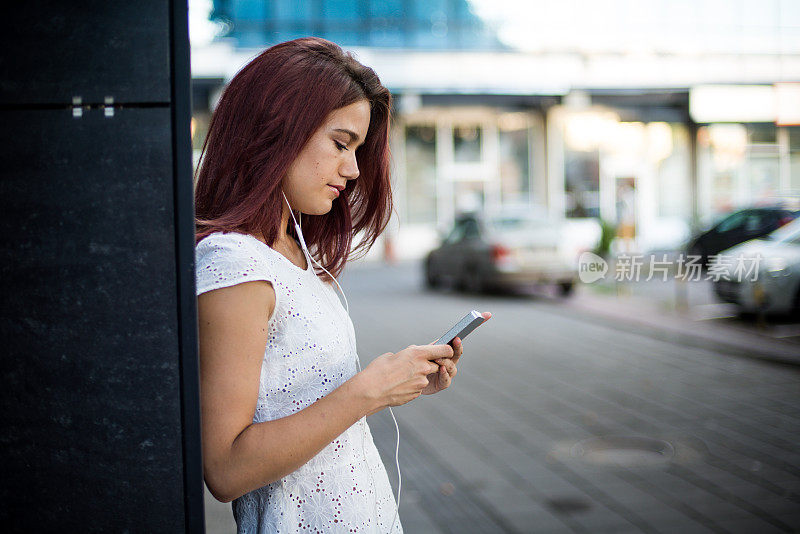
[[[332,286],[353,236],[367,250],[390,215],[390,107],[372,69],[308,38],[244,67],[211,120],[196,189],[203,462],[239,532],[402,531],[365,416],[448,387],[462,347],[362,371]]]

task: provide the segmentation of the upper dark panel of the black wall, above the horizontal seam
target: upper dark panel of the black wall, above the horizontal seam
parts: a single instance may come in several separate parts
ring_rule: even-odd
[[[4,5],[0,104],[170,101],[170,2]]]

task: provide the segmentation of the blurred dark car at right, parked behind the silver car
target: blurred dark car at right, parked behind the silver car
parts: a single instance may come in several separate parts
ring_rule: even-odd
[[[707,265],[709,256],[717,255],[739,243],[765,236],[792,222],[799,215],[800,209],[788,204],[739,210],[694,237],[689,242],[687,252],[692,256],[700,256],[702,263]]]

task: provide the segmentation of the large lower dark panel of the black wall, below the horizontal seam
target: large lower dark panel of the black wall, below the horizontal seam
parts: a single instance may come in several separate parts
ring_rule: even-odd
[[[23,390],[3,399],[0,502],[25,509],[35,494],[53,504],[40,525],[122,531],[144,526],[149,489],[155,530],[182,530],[169,109],[0,123],[0,198],[13,199],[0,216],[0,376]]]

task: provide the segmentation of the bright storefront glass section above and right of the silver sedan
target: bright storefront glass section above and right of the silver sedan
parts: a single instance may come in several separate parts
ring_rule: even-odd
[[[563,168],[564,193],[552,190],[551,212],[604,221],[617,251],[669,250],[687,238],[693,216],[692,134],[681,122],[623,120],[646,118],[637,113],[600,105],[552,110],[549,154]],[[558,170],[548,184],[558,183]]]

